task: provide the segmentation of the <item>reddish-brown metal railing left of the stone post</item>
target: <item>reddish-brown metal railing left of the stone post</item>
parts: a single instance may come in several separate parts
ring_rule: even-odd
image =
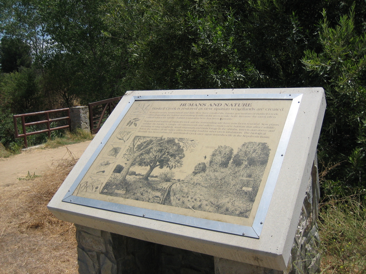
[[[55,118],[55,119],[50,119],[49,118],[50,113],[56,113],[56,112],[60,112],[60,111],[67,111],[67,117],[61,117],[61,118]],[[25,122],[24,117],[34,116],[34,115],[45,115],[46,119],[42,120],[42,121],[37,121],[37,122],[30,122],[30,123]],[[19,118],[19,117],[22,120],[23,134],[18,133],[18,124],[16,122],[16,118]],[[61,121],[61,120],[67,120],[68,125],[59,126],[57,128],[51,128],[50,127],[51,122],[56,122],[56,121]],[[34,134],[40,134],[40,133],[47,132],[48,133],[48,138],[51,138],[51,131],[57,130],[57,129],[70,128],[70,123],[71,123],[71,121],[70,121],[70,109],[69,108],[55,109],[55,110],[39,111],[39,112],[33,112],[33,113],[17,114],[17,115],[13,115],[13,121],[14,121],[14,129],[15,129],[15,138],[23,137],[24,138],[24,145],[27,148],[28,147],[27,136],[29,136],[29,135],[34,135]],[[34,131],[34,132],[27,132],[26,131],[26,126],[40,125],[40,124],[46,124],[47,129],[37,130],[37,131]]]

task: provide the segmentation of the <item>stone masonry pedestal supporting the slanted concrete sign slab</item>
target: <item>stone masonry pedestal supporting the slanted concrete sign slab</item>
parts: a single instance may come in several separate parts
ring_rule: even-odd
[[[314,274],[320,271],[316,224],[319,202],[317,158],[309,178],[288,267],[249,265],[107,231],[76,225],[80,274]]]

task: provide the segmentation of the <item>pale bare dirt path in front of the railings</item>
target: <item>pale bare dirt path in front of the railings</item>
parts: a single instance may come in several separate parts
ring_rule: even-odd
[[[21,154],[0,159],[0,188],[19,182],[28,174],[41,175],[53,161],[70,157],[68,150],[78,159],[90,141],[53,149],[34,149]]]

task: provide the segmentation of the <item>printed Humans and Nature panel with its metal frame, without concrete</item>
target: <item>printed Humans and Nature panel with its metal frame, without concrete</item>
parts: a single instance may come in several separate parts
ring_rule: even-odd
[[[258,238],[301,97],[134,96],[63,201]]]

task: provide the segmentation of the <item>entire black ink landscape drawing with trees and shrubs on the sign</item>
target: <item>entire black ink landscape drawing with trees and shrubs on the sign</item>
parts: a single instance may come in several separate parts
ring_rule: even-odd
[[[135,136],[101,194],[191,210],[248,218],[268,163],[265,142],[245,142],[239,148],[219,145],[206,162],[198,162],[185,179],[175,179],[185,153],[197,142],[189,138]],[[137,174],[134,167],[148,167]],[[168,168],[152,176],[156,168]]]

